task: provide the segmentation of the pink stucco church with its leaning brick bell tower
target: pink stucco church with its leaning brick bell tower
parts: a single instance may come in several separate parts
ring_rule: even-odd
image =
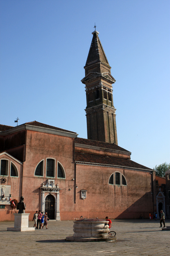
[[[118,146],[111,67],[95,30],[84,67],[87,139],[38,121],[0,125],[0,220],[14,220],[11,200],[52,220],[148,218],[155,173]]]

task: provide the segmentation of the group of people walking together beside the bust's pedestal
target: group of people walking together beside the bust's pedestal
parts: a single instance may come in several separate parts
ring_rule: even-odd
[[[32,221],[34,221],[34,227],[36,229],[38,229],[38,224],[39,224],[39,229],[43,229],[44,226],[46,226],[46,229],[48,229],[47,225],[48,225],[48,215],[47,212],[41,213],[41,211],[36,211],[34,213],[33,219]]]

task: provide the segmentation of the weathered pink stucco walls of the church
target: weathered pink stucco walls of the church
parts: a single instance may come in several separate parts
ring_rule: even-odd
[[[112,152],[81,149],[81,151],[98,154],[113,155]],[[116,157],[129,158],[121,153],[114,153]],[[151,174],[146,171],[135,171],[123,168],[112,168],[96,165],[74,164],[74,138],[52,135],[37,131],[26,131],[26,152],[22,164],[15,161],[19,170],[19,177],[6,177],[7,185],[11,185],[12,199],[24,197],[26,213],[30,213],[29,220],[35,210],[41,209],[41,190],[46,182],[46,159],[55,159],[55,184],[60,190],[61,220],[74,220],[81,215],[86,218],[139,218],[148,217],[153,211]],[[10,157],[8,157],[11,161]],[[43,177],[35,176],[35,168],[44,160]],[[66,178],[57,178],[57,162],[63,166]],[[14,160],[13,160],[14,162]],[[127,186],[110,185],[109,177],[118,171],[127,181]],[[154,177],[155,178],[155,177]],[[22,182],[22,187],[21,187]],[[77,184],[77,189],[75,186]],[[71,190],[69,187],[73,186]],[[81,199],[80,190],[87,190],[87,198]],[[47,195],[47,194],[45,194]],[[74,201],[75,200],[75,201]],[[0,209],[1,221],[14,220],[14,211],[10,206]]]

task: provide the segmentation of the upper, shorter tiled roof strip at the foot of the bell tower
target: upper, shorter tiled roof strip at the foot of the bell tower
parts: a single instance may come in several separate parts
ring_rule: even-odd
[[[110,148],[110,149],[115,149],[115,150],[119,150],[119,151],[129,152],[128,150],[121,148],[116,144],[108,143],[108,142],[93,141],[93,140],[88,140],[88,139],[83,139],[83,138],[76,138],[75,142],[78,144],[85,144],[85,145],[99,147],[99,148]]]

